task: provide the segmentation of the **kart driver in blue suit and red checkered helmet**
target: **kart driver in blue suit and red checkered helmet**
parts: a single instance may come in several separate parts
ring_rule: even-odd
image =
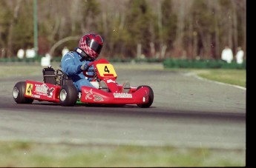
[[[85,77],[83,71],[93,70],[93,61],[99,56],[102,47],[103,39],[101,36],[94,33],[85,34],[80,38],[78,47],[63,56],[62,71],[72,79],[78,91],[81,92],[82,86],[93,87],[90,83],[93,78]],[[93,75],[93,72],[88,72],[88,75]],[[100,81],[100,88],[105,88],[103,90],[108,92],[105,81]]]

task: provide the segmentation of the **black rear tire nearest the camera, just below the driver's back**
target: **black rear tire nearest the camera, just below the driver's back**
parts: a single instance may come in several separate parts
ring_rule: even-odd
[[[78,92],[73,85],[63,85],[59,90],[59,102],[62,106],[74,106],[77,101]]]

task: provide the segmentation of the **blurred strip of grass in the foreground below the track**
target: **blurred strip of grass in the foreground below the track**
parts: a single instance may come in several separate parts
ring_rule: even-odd
[[[0,167],[244,167],[245,151],[0,141]]]

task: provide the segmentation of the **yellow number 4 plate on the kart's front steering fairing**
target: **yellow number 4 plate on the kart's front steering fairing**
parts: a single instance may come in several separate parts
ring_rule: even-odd
[[[112,64],[96,64],[99,75],[102,77],[116,77],[116,71]]]

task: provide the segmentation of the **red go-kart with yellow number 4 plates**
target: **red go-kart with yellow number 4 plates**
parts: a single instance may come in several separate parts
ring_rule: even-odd
[[[91,71],[93,75],[88,75]],[[43,68],[43,81],[19,81],[13,87],[13,98],[17,104],[32,104],[33,100],[59,103],[62,106],[74,106],[77,102],[85,104],[137,104],[138,107],[150,107],[154,101],[154,93],[149,86],[128,87],[116,83],[114,66],[105,59],[93,61],[91,70],[84,75],[93,78],[91,84],[95,87],[76,90],[73,81],[62,70],[52,67]],[[105,81],[108,90],[99,86]]]

